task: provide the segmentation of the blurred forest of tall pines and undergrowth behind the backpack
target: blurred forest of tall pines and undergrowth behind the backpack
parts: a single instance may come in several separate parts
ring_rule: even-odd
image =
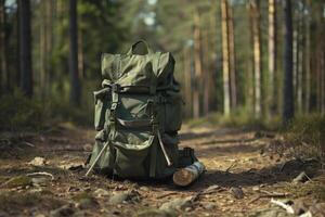
[[[174,55],[188,123],[325,137],[324,0],[0,0],[0,30],[1,129],[91,125],[101,54],[145,39]]]

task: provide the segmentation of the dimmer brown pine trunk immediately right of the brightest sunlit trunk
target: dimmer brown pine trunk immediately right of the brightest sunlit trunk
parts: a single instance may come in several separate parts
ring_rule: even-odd
[[[227,7],[229,14],[229,50],[230,50],[230,85],[231,85],[231,106],[234,110],[237,106],[237,90],[236,90],[236,59],[235,59],[235,35],[234,35],[234,18],[233,8]]]

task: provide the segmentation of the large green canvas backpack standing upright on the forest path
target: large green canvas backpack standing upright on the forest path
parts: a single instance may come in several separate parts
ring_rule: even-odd
[[[158,179],[184,166],[179,156],[185,152],[178,150],[183,101],[173,69],[170,53],[153,52],[142,40],[127,54],[102,55],[104,80],[94,92],[98,133],[89,162],[95,171]]]

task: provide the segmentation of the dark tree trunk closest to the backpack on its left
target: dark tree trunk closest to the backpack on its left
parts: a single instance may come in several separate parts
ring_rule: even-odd
[[[80,80],[78,74],[78,27],[77,0],[69,0],[69,73],[70,73],[70,103],[80,105]]]

